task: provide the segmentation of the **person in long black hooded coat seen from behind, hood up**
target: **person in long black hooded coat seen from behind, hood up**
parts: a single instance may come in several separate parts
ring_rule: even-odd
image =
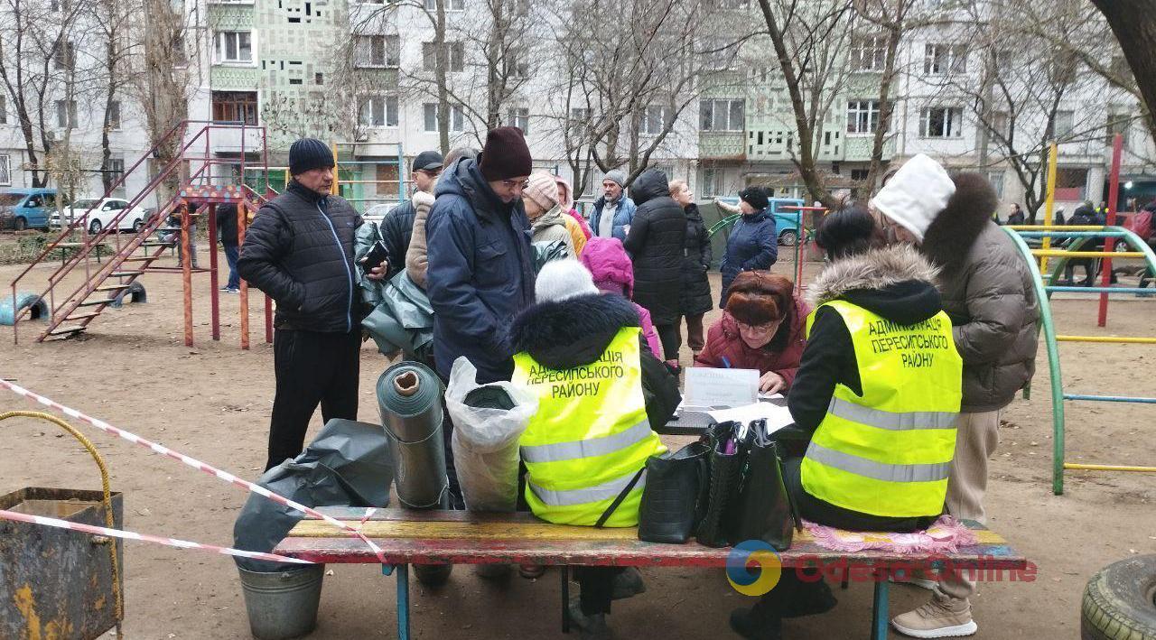
[[[687,219],[670,198],[666,173],[643,171],[630,186],[638,206],[622,245],[635,263],[635,302],[651,312],[667,364],[679,366],[679,289]]]

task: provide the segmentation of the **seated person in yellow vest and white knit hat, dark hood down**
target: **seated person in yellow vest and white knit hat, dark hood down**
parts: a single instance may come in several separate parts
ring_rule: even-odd
[[[646,459],[666,452],[652,426],[670,419],[677,380],[645,347],[630,300],[600,295],[575,260],[542,267],[536,303],[510,329],[512,382],[538,396],[519,445],[525,499],[548,522],[633,527]],[[637,570],[576,567],[569,603],[583,638],[606,638],[610,601],[645,590]]]

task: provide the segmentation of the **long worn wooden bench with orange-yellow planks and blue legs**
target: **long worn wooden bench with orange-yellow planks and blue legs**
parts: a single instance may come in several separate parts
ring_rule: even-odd
[[[361,507],[321,507],[338,520],[360,522]],[[975,523],[978,544],[957,553],[936,556],[954,566],[976,566],[993,571],[1018,571],[1027,559],[1011,550],[999,535]],[[381,548],[385,575],[398,579],[398,638],[409,638],[408,565],[534,564],[562,567],[562,628],[569,630],[566,601],[571,565],[636,567],[719,567],[726,566],[729,548],[711,549],[697,543],[658,544],[639,541],[637,529],[595,529],[543,522],[528,513],[470,513],[461,511],[377,509],[362,526],[362,533]],[[275,553],[314,563],[378,563],[378,557],[356,537],[335,530],[320,520],[302,520]],[[888,633],[888,580],[892,566],[910,567],[928,557],[901,556],[889,551],[838,553],[815,543],[806,531],[795,531],[794,544],[779,555],[784,567],[827,566],[828,563],[854,563],[860,576],[873,576],[875,586],[870,638],[882,640]],[[854,575],[852,575],[855,579]],[[846,580],[843,580],[844,587]]]

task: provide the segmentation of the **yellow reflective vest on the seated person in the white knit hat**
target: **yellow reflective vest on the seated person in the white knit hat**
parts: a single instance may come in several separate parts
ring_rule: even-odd
[[[538,412],[518,444],[526,463],[526,503],[558,524],[598,522],[651,455],[666,452],[646,419],[638,327],[624,327],[599,359],[555,370],[523,352],[512,382],[538,396]],[[638,524],[645,472],[606,527]]]

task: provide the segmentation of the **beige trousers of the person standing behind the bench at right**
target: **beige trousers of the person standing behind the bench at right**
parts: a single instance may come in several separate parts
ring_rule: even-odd
[[[1000,411],[959,414],[955,437],[955,460],[947,481],[947,511],[959,520],[987,522],[984,493],[987,492],[987,461],[1000,444]],[[965,603],[976,591],[976,582],[966,572],[944,576],[935,595],[954,601],[953,609]],[[964,602],[961,602],[964,601]]]

